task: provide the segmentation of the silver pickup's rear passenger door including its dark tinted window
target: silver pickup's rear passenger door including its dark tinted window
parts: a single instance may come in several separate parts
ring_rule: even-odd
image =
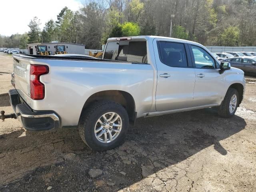
[[[175,40],[155,39],[157,66],[156,111],[193,106],[195,70],[188,45]]]

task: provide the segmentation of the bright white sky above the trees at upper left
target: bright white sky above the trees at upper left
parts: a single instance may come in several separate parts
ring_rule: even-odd
[[[59,12],[67,6],[78,10],[82,0],[1,0],[0,1],[0,34],[10,36],[29,31],[28,24],[34,16],[44,24],[53,19],[57,20]]]

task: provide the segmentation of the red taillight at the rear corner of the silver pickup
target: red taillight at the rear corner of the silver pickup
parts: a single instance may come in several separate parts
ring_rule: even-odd
[[[49,73],[46,65],[30,65],[30,97],[34,100],[44,98],[44,84],[40,82],[40,76]]]

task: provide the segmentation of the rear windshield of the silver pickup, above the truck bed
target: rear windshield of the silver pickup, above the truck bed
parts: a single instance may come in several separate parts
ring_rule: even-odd
[[[104,59],[148,63],[146,41],[108,42]]]

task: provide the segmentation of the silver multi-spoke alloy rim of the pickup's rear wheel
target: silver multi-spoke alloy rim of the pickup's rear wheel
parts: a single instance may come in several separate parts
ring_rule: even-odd
[[[95,124],[94,134],[102,143],[110,143],[115,140],[122,129],[122,119],[115,112],[103,114]]]

